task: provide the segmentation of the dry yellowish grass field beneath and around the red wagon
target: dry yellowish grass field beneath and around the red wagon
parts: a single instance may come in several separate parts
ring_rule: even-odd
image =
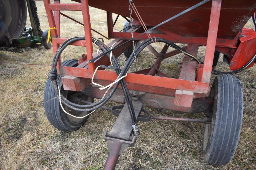
[[[46,30],[49,25],[44,5],[37,1],[37,7],[41,29]],[[90,13],[92,28],[107,35],[105,12],[90,8]],[[80,12],[67,11],[65,14],[82,21]],[[62,37],[84,35],[79,24],[64,17],[61,22]],[[124,22],[120,18],[115,29],[121,30]],[[246,27],[253,28],[251,20]],[[100,36],[93,33],[93,37]],[[154,46],[159,51],[163,44]],[[201,59],[204,50],[205,47],[200,47],[198,56]],[[77,59],[83,53],[83,47],[68,47],[62,53],[62,60]],[[110,111],[97,110],[75,132],[55,129],[45,116],[43,95],[47,77],[44,74],[50,67],[24,64],[50,64],[52,56],[52,50],[43,47],[23,54],[0,51],[0,169],[94,169],[102,168],[105,163],[108,148],[103,132],[110,130],[116,119]],[[150,67],[154,60],[148,50],[142,51],[137,69]],[[168,58],[161,64],[161,70],[177,78],[182,60],[181,54]],[[118,62],[124,65],[125,57],[121,55]],[[222,62],[217,68],[228,70]],[[134,66],[131,71],[133,69]],[[204,161],[203,124],[152,120],[139,123],[140,138],[134,147],[123,152],[116,169],[256,169],[256,67],[236,76],[242,82],[244,115],[237,152],[230,164],[214,167]],[[111,107],[114,103],[107,105]],[[203,114],[147,110],[155,115],[203,117]]]

